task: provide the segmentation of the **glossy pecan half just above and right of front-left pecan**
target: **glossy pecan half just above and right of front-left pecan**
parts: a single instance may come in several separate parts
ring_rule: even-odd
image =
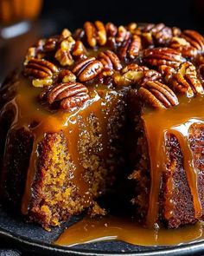
[[[73,73],[80,82],[86,82],[95,78],[103,69],[103,64],[94,57],[81,60],[73,67]]]

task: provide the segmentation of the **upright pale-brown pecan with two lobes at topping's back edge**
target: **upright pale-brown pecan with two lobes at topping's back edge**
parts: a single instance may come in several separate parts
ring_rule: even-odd
[[[86,40],[89,46],[95,47],[97,43],[100,46],[105,45],[107,37],[104,23],[96,21],[94,24],[86,22],[84,24]]]

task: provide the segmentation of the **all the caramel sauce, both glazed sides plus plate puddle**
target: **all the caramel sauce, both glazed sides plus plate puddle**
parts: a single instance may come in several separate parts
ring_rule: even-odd
[[[89,194],[89,184],[83,179],[84,167],[80,161],[80,152],[77,147],[77,141],[80,140],[80,119],[87,124],[87,116],[93,113],[101,121],[101,134],[103,148],[100,152],[103,157],[110,152],[107,149],[107,116],[112,113],[114,103],[118,101],[120,95],[111,89],[105,89],[103,86],[90,87],[92,100],[86,102],[83,108],[73,112],[50,111],[41,106],[36,101],[37,95],[41,89],[35,89],[28,81],[21,77],[17,84],[17,93],[13,100],[8,102],[3,111],[12,106],[15,108],[15,119],[10,129],[27,128],[34,135],[33,151],[30,157],[29,170],[22,197],[22,213],[28,213],[29,200],[31,198],[32,183],[35,178],[36,161],[38,157],[37,147],[46,133],[63,131],[67,136],[67,147],[75,164],[76,171],[73,172],[73,183],[79,187],[79,193],[84,197],[85,206],[89,206],[92,200]],[[100,90],[101,89],[101,90]],[[182,154],[183,167],[186,171],[188,184],[194,201],[194,216],[201,216],[202,208],[197,192],[197,170],[194,168],[192,152],[188,145],[188,128],[193,123],[204,123],[204,100],[203,97],[188,99],[181,97],[180,104],[169,109],[144,109],[142,119],[147,136],[149,154],[150,154],[150,203],[147,213],[146,224],[150,228],[143,227],[137,223],[137,220],[131,218],[119,218],[107,216],[102,219],[89,219],[76,223],[67,228],[60,238],[54,243],[61,246],[72,246],[80,243],[86,243],[99,240],[123,240],[131,244],[140,246],[156,245],[177,245],[192,240],[203,239],[203,226],[199,222],[194,226],[185,226],[176,230],[167,230],[156,228],[155,223],[158,214],[158,196],[160,191],[161,174],[165,171],[166,152],[165,136],[167,133],[173,134],[178,139]],[[107,113],[107,109],[109,112]],[[35,121],[36,125],[30,126]],[[169,179],[169,187],[173,187],[172,180]],[[169,201],[166,216],[170,217],[174,210],[174,204]]]

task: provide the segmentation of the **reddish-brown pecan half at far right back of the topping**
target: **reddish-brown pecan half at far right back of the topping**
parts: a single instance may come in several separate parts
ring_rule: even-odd
[[[199,51],[204,50],[204,37],[194,30],[184,30],[181,35],[191,46]]]

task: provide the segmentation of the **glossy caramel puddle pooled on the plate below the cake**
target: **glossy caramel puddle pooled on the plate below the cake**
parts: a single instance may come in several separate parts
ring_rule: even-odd
[[[203,240],[203,224],[183,226],[178,229],[145,228],[137,220],[121,217],[85,219],[69,226],[54,241],[59,246],[74,246],[102,240],[121,240],[138,246],[174,246],[193,240]]]

